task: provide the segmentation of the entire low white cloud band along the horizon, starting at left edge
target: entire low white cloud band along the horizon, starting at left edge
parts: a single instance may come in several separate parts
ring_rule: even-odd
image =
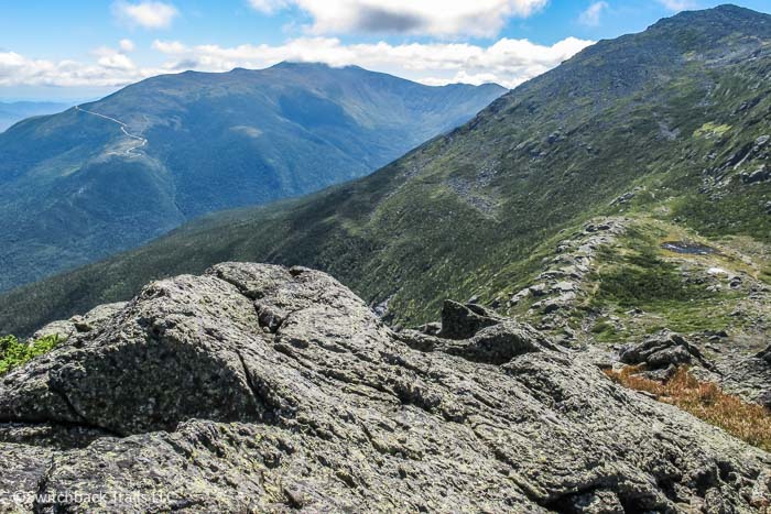
[[[117,48],[96,48],[94,61],[88,63],[32,59],[14,52],[0,52],[0,87],[120,87],[163,73],[264,68],[281,61],[359,65],[428,85],[495,81],[514,87],[553,68],[589,44],[590,41],[575,37],[551,46],[510,39],[487,46],[469,43],[344,44],[336,37],[323,36],[294,39],[281,45],[232,47],[155,41],[153,48],[161,54],[163,63],[156,67],[142,67],[127,55],[132,45],[120,42]]]

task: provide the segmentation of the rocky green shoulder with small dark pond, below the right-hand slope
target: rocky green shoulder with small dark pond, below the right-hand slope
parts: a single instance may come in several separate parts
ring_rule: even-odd
[[[765,245],[636,215],[594,218],[545,247],[525,287],[482,304],[565,346],[605,351],[617,367],[642,364],[650,379],[687,365],[771,407]]]

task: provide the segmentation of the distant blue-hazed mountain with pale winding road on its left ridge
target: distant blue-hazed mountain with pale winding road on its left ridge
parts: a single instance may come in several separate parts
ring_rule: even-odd
[[[367,175],[503,92],[283,63],[159,76],[25,120],[0,134],[0,291]]]

